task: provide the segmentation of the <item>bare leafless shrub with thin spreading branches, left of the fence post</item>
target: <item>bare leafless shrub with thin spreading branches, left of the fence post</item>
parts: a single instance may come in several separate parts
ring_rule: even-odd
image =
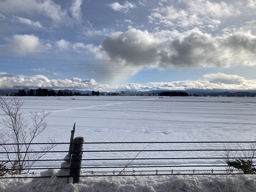
[[[49,144],[40,148],[40,151],[31,153],[32,141],[47,127],[45,118],[52,112],[30,111],[33,126],[29,127],[27,120],[24,120],[20,108],[24,102],[16,97],[4,98],[0,96],[0,108],[6,115],[0,124],[8,128],[9,131],[0,133],[0,151],[12,164],[12,169],[7,171],[10,174],[20,174],[25,168],[28,172],[31,166],[56,146],[54,141],[49,140]],[[12,145],[7,145],[12,144]]]

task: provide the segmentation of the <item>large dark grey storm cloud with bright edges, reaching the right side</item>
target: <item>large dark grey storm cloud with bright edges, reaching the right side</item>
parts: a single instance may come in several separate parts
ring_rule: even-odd
[[[255,65],[256,37],[250,31],[236,31],[221,36],[212,36],[195,28],[179,33],[173,39],[155,37],[148,31],[130,29],[109,36],[102,43],[116,68],[159,68],[171,67],[230,67],[240,64]],[[177,69],[177,68],[176,68]]]

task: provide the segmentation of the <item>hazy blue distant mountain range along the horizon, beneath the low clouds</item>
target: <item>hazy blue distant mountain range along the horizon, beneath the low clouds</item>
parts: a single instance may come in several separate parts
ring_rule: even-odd
[[[26,92],[28,90],[30,90],[29,88],[22,88],[24,89]],[[22,89],[0,89],[0,93],[14,93],[14,92],[18,92],[19,90],[22,90]],[[48,89],[49,91],[52,90],[52,89]],[[65,89],[67,90],[67,89]],[[56,93],[58,92],[58,90],[54,90]],[[60,90],[60,91],[63,91],[63,90]],[[87,93],[92,93],[92,91],[82,91],[82,90],[76,90],[76,89],[71,89],[69,91],[72,91],[72,93],[74,92],[80,92],[81,94],[87,94]],[[94,90],[94,91],[98,91],[98,90]],[[135,94],[139,94],[139,93],[154,93],[154,94],[158,94],[160,92],[165,92],[165,91],[181,91],[181,92],[187,92],[189,95],[215,95],[215,96],[246,96],[246,95],[255,95],[256,96],[256,90],[246,90],[246,91],[243,91],[243,90],[233,90],[233,91],[224,91],[224,90],[202,90],[202,89],[190,89],[190,90],[152,90],[152,91],[130,91],[130,90],[123,90],[125,91],[125,93],[135,93]],[[116,91],[116,92],[100,92],[100,93],[103,93],[103,94],[108,94],[108,93],[121,93],[121,91]]]

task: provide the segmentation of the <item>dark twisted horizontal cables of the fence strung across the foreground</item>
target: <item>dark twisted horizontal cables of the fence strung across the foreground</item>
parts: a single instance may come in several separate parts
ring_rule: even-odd
[[[26,145],[28,143],[19,143],[19,145]],[[59,142],[59,143],[29,143],[30,145],[47,145],[47,144],[58,144],[58,145],[67,145],[67,144],[72,144],[71,142]],[[83,175],[79,175],[78,177],[95,177],[95,176],[133,176],[133,175],[210,175],[210,174],[243,174],[243,172],[241,172],[241,170],[248,170],[250,169],[251,171],[246,172],[246,174],[255,174],[255,167],[253,164],[253,161],[255,160],[255,153],[250,153],[250,152],[254,152],[256,151],[256,148],[230,148],[229,146],[239,146],[241,144],[256,144],[256,141],[179,141],[179,142],[83,142],[83,145],[86,146],[86,149],[92,149],[92,150],[50,150],[50,151],[41,151],[41,150],[35,150],[35,151],[29,151],[28,153],[30,154],[36,154],[36,153],[63,153],[63,154],[68,154],[68,153],[81,153],[83,155],[85,155],[86,157],[89,156],[90,158],[80,158],[79,160],[74,159],[74,161],[81,161],[82,164],[76,168],[82,169],[84,174]],[[117,144],[124,144],[127,149],[124,149],[122,147],[122,149],[116,149]],[[132,146],[129,146],[129,144],[133,144]],[[138,150],[139,147],[137,147],[134,144],[148,144],[144,149],[142,150]],[[172,149],[157,149],[158,147],[154,146],[157,144],[166,144],[166,147],[168,148],[172,148]],[[174,144],[174,146],[172,146],[172,144]],[[190,148],[188,149],[175,149],[177,148],[177,145],[180,144],[189,144]],[[190,144],[195,144],[195,145],[190,145]],[[197,144],[197,145],[196,145]],[[206,148],[205,146],[203,146],[202,148],[198,148],[199,144],[215,144],[216,146],[214,147],[210,147],[210,148]],[[6,146],[6,145],[17,145],[17,143],[0,143],[0,149],[2,146]],[[97,146],[98,147],[95,147]],[[100,148],[99,145],[103,145],[103,147],[105,145],[113,145],[113,150],[93,150],[94,148]],[[146,149],[148,146],[152,146],[153,149]],[[224,147],[223,147],[224,146]],[[228,146],[228,147],[227,147]],[[66,148],[66,147],[63,147]],[[102,148],[102,147],[101,147]],[[104,147],[105,148],[105,147]],[[130,149],[133,148],[133,149]],[[135,148],[135,149],[134,149]],[[117,153],[116,156],[113,157],[113,154],[109,155],[110,153]],[[118,158],[120,155],[119,153],[121,152],[125,152],[125,153],[130,153],[130,152],[136,152],[137,156],[139,156],[140,153],[145,153],[147,154],[147,152],[154,152],[154,153],[163,153],[161,156],[159,157],[152,157],[152,153],[148,154],[148,156],[146,157],[137,157],[135,156],[134,158]],[[188,156],[183,156],[180,157],[179,155],[174,156],[172,154],[172,152],[211,152],[211,154],[206,154],[204,156],[202,156],[202,154],[199,157],[193,157],[196,155],[190,155],[190,157]],[[219,152],[221,152],[222,154],[220,154]],[[241,153],[240,153],[241,152]],[[20,160],[6,160],[4,159],[4,155],[6,155],[6,151],[0,150],[0,165],[3,164],[8,164],[10,162],[19,162]],[[23,154],[23,153],[27,153],[26,151],[9,151],[9,154]],[[112,158],[96,158],[97,155],[91,155],[91,154],[103,154],[103,156],[112,156]],[[167,153],[167,154],[166,154]],[[223,155],[224,154],[224,155]],[[229,156],[227,155],[229,154]],[[235,154],[235,155],[234,155]],[[240,154],[240,156],[239,156]],[[243,155],[241,155],[243,154]],[[250,156],[250,154],[253,154],[252,156]],[[171,155],[171,156],[170,156]],[[145,155],[144,155],[145,156]],[[166,157],[167,156],[167,157]],[[169,156],[169,157],[168,157]],[[192,156],[192,157],[191,157]],[[198,156],[198,155],[197,155]],[[186,161],[190,161],[190,160],[221,160],[222,162],[227,161],[227,160],[233,160],[235,161],[236,159],[251,159],[252,162],[251,164],[242,164],[242,168],[238,167],[237,165],[231,167],[230,165],[227,164],[195,164],[195,163],[191,163],[191,164],[152,164],[152,161],[154,160],[161,160],[161,161],[171,161],[171,160],[186,160]],[[26,162],[56,162],[56,161],[67,161],[67,159],[64,158],[60,158],[60,159],[28,159],[28,160],[23,160]],[[114,161],[114,162],[113,162]],[[123,162],[123,161],[128,161],[127,164],[122,164],[120,165],[119,163]],[[134,161],[141,161],[140,163],[135,163],[132,164],[131,162]],[[147,162],[149,161],[149,163]],[[88,162],[90,162],[88,164]],[[95,163],[98,162],[98,163]],[[100,163],[99,163],[100,162]],[[151,164],[150,164],[151,163]],[[101,166],[99,165],[101,164]],[[103,165],[106,166],[103,166]],[[111,164],[111,165],[109,165]],[[150,170],[134,170],[134,169],[150,169]],[[158,170],[158,169],[161,170]],[[184,170],[176,170],[176,168],[185,168]],[[186,169],[187,168],[187,169]],[[200,170],[198,170],[198,168],[200,168]],[[205,168],[205,169],[204,169]],[[210,169],[209,169],[210,168]],[[55,166],[55,167],[30,167],[29,170],[35,170],[35,171],[40,171],[40,170],[45,170],[45,169],[69,169],[69,168],[62,168],[60,166]],[[85,171],[85,169],[90,169],[90,171]],[[112,169],[112,171],[108,171]],[[118,170],[122,170],[122,171],[116,171],[115,169]],[[165,169],[165,170],[164,170]],[[188,170],[189,169],[189,170]],[[202,170],[201,170],[202,169]],[[207,170],[209,169],[209,170]],[[221,170],[220,170],[221,169]],[[22,173],[27,172],[28,168],[27,167],[5,167],[5,166],[1,166],[0,167],[0,173],[1,172],[6,172],[6,171],[21,171]],[[107,171],[106,171],[107,170]],[[49,176],[50,177],[50,176]],[[38,175],[17,175],[17,176],[2,176],[0,178],[5,179],[5,178],[49,178],[49,177],[42,177],[42,176],[38,176]],[[63,176],[58,176],[58,177],[70,177],[67,175],[63,175]]]

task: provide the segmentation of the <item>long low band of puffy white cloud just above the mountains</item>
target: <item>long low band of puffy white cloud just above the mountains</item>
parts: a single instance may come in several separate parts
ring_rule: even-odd
[[[240,81],[241,80],[241,81]],[[239,83],[238,83],[239,82]],[[52,89],[84,89],[100,91],[121,91],[121,90],[255,90],[256,80],[246,80],[237,75],[227,75],[223,73],[204,75],[203,80],[186,80],[174,82],[150,82],[147,84],[121,84],[108,85],[96,82],[94,79],[49,79],[43,75],[23,76],[0,72],[0,89],[18,88],[52,88]]]

